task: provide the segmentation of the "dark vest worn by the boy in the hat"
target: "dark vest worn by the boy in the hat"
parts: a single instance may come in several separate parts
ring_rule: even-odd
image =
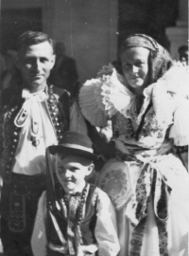
[[[51,207],[51,202],[47,198],[48,209]],[[96,225],[96,205],[97,205],[97,189],[94,185],[90,184],[89,193],[86,201],[85,217],[80,224],[82,242],[84,246],[92,245],[96,243],[94,237],[94,229]],[[59,210],[53,210],[53,214],[59,224],[60,231],[62,232],[65,240],[67,240],[67,220],[64,218],[63,214]],[[48,244],[52,243],[55,246],[62,246],[60,242],[59,235],[54,227],[52,219],[47,212],[47,240]]]

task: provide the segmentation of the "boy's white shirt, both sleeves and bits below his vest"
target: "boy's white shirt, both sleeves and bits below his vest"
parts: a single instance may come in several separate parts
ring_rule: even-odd
[[[47,245],[45,235],[45,221],[46,221],[46,192],[40,198],[38,211],[36,215],[36,221],[33,229],[33,235],[31,239],[31,247],[34,256],[45,256],[46,247],[50,247],[55,251],[65,250],[67,243],[65,241],[62,247],[56,247],[55,245]],[[61,236],[62,233],[61,233]],[[120,246],[117,237],[117,223],[115,210],[112,206],[112,202],[109,196],[98,190],[97,201],[97,221],[94,229],[94,236],[97,241],[96,244],[89,246],[81,246],[81,251],[86,250],[94,253],[98,249],[99,256],[115,256],[119,252]],[[62,238],[64,239],[64,238]],[[81,253],[82,256],[83,254]]]

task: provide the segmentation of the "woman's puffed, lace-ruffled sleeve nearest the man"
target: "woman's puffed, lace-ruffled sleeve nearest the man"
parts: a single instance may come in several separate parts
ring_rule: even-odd
[[[133,94],[121,79],[112,68],[111,75],[88,80],[81,87],[78,97],[81,112],[94,126],[106,127],[108,119],[112,119],[117,111],[127,112]]]

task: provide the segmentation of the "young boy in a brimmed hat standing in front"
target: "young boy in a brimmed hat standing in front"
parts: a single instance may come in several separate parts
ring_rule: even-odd
[[[39,201],[32,236],[35,256],[115,256],[119,251],[115,211],[105,192],[88,184],[94,170],[89,137],[66,132],[55,155],[55,172],[47,174],[47,192]]]

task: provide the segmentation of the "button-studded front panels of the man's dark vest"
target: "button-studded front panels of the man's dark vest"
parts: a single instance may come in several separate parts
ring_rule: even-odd
[[[1,133],[1,172],[3,179],[7,182],[11,180],[11,171],[15,163],[15,153],[19,142],[19,137],[22,128],[17,127],[14,124],[14,119],[18,115],[19,110],[22,107],[24,101],[21,101],[21,94],[10,95],[9,104],[1,106],[0,114],[0,127],[2,128]],[[68,99],[69,100],[69,99]],[[50,117],[56,130],[56,136],[58,141],[62,137],[62,134],[69,129],[69,123],[66,119],[64,110],[60,105],[60,102],[54,95],[53,85],[49,87],[49,98],[47,100],[47,106],[49,109]]]

